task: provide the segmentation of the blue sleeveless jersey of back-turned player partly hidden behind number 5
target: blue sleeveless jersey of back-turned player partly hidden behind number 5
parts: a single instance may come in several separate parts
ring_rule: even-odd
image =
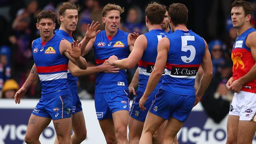
[[[139,87],[138,90],[145,91],[148,83],[149,76],[154,69],[157,57],[157,45],[161,38],[169,35],[164,30],[150,30],[144,34],[147,38],[147,48],[143,52],[141,60],[139,61]],[[163,72],[164,76],[164,72]],[[156,93],[161,87],[163,76],[158,82],[156,88],[152,91]]]

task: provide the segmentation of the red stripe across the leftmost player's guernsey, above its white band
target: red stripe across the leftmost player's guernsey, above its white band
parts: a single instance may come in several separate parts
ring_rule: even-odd
[[[54,66],[37,66],[38,73],[44,72],[60,72],[63,70],[68,70],[68,65],[54,65]]]

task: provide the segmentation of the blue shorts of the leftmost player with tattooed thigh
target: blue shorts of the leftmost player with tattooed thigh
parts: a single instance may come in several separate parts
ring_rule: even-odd
[[[72,95],[56,96],[47,100],[40,99],[32,114],[36,116],[52,118],[58,120],[61,118],[70,118],[72,109]]]

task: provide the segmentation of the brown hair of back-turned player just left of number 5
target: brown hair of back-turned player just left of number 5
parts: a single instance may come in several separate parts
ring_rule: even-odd
[[[150,24],[161,24],[165,17],[166,8],[156,2],[148,4],[145,13]]]

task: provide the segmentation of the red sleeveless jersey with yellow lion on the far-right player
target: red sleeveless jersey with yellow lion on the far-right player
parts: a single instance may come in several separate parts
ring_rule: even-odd
[[[241,35],[237,36],[236,41],[234,42],[231,59],[233,61],[233,78],[235,80],[247,74],[255,64],[250,48],[245,44],[247,36],[253,31],[256,30],[254,28],[249,28]],[[243,85],[241,90],[256,93],[256,79]]]

